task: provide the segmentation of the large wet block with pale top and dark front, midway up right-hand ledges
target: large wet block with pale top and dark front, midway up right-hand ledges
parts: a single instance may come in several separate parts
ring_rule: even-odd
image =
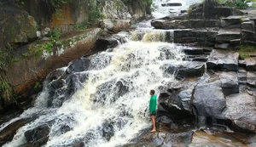
[[[212,50],[207,61],[207,69],[220,71],[238,71],[237,52],[227,52],[221,50]]]

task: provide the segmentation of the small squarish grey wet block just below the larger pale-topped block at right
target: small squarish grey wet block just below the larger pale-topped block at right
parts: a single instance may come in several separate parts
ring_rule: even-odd
[[[220,72],[221,88],[224,96],[231,93],[239,93],[238,77],[236,72]]]

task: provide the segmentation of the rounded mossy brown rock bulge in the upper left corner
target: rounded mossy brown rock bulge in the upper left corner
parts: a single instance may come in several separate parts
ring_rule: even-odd
[[[17,47],[20,43],[30,42],[37,38],[37,23],[19,8],[15,3],[9,1],[0,6],[0,48]]]

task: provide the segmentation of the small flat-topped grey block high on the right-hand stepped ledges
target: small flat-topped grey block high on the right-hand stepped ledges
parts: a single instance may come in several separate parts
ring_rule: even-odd
[[[240,39],[241,29],[220,29],[216,36],[216,42],[230,42],[230,40]]]

